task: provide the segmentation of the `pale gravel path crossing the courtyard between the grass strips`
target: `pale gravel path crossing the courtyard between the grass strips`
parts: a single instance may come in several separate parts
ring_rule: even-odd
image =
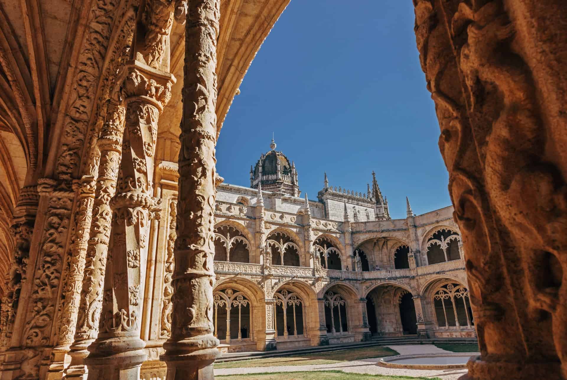
[[[402,355],[416,353],[440,353],[448,352],[441,348],[435,347],[433,344],[406,344],[387,346],[396,350]],[[272,367],[252,367],[252,368],[225,368],[215,369],[215,376],[219,375],[240,375],[264,372],[293,372],[293,371],[324,371],[324,370],[341,370],[347,373],[362,373],[373,375],[404,375],[404,376],[422,376],[422,377],[439,377],[443,380],[456,380],[463,374],[467,373],[466,369],[453,370],[411,370],[384,368],[376,365],[380,358],[370,358],[353,360],[335,364],[316,364],[316,365],[289,365],[289,366],[272,366]]]

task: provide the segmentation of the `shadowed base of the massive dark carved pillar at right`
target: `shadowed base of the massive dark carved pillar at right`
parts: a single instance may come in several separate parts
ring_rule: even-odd
[[[480,356],[472,356],[467,368],[468,373],[459,380],[562,379],[560,362],[484,361]]]

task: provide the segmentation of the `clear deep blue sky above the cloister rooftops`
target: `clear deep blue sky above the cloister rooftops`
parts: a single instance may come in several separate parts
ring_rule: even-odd
[[[413,25],[409,0],[291,0],[226,117],[219,174],[249,186],[274,132],[310,199],[325,171],[331,186],[366,191],[375,170],[392,218],[405,218],[406,196],[416,214],[449,206]]]

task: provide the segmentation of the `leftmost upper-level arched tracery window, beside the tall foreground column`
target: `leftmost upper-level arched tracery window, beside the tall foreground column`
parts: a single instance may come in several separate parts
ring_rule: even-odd
[[[238,228],[225,224],[216,227],[214,232],[214,260],[250,262],[252,245]]]

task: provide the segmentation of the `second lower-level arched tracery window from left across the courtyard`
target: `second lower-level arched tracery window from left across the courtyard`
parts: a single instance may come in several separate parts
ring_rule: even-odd
[[[276,313],[274,318],[276,325],[276,336],[289,339],[289,336],[298,337],[305,335],[305,313],[303,309],[303,300],[297,293],[290,290],[278,290],[274,297],[276,298]]]

